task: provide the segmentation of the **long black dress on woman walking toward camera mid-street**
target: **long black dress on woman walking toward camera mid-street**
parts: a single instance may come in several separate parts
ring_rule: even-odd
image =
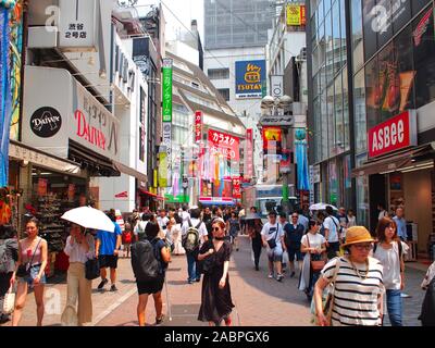
[[[212,240],[206,241],[199,253],[206,253],[209,249],[214,250]],[[214,322],[219,324],[232,312],[234,304],[231,296],[229,276],[226,276],[225,287],[219,288],[219,282],[224,273],[224,262],[229,261],[232,247],[225,240],[219,251],[214,250],[214,266],[210,273],[204,273],[202,281],[201,308],[198,320],[202,322]]]

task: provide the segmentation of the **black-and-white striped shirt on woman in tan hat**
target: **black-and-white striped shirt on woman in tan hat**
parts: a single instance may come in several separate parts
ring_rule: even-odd
[[[331,282],[334,277],[338,258],[331,260],[322,270],[322,275]],[[383,268],[380,261],[369,258],[369,275],[364,263],[353,263],[352,268],[347,258],[339,258],[339,271],[335,281],[335,298],[333,304],[333,326],[381,324],[377,309],[377,297],[385,291],[383,284]]]

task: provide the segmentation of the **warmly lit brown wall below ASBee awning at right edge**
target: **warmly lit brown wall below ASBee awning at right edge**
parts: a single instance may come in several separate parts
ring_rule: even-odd
[[[403,174],[405,217],[419,225],[419,251],[427,252],[427,238],[432,233],[431,171]]]

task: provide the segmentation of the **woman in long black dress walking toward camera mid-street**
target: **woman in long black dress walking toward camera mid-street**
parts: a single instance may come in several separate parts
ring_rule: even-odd
[[[213,240],[206,241],[198,256],[203,261],[201,308],[198,320],[209,325],[221,325],[222,320],[229,326],[234,308],[229,288],[231,243],[225,240],[225,222],[216,219],[212,225]]]

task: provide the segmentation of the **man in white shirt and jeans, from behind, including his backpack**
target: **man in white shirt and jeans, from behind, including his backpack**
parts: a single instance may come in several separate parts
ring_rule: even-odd
[[[188,278],[187,282],[200,282],[201,272],[198,265],[198,253],[200,246],[208,240],[206,224],[199,219],[201,211],[198,208],[190,210],[188,219],[182,227],[182,245],[186,250]]]

